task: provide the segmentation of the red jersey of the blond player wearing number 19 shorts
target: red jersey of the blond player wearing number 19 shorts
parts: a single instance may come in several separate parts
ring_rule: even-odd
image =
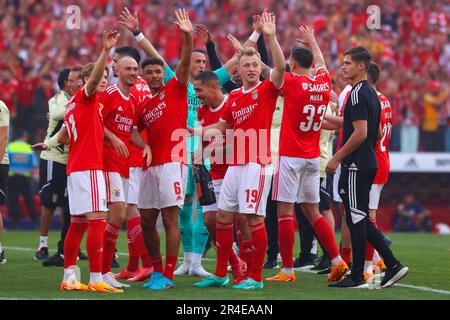
[[[221,121],[234,128],[233,159],[227,163],[270,164],[270,129],[281,90],[266,79],[255,87],[233,90],[224,106]]]

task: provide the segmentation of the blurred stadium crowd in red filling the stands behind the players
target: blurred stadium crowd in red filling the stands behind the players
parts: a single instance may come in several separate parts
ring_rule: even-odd
[[[74,11],[67,8],[74,2],[81,9],[81,24],[69,30],[66,18]],[[372,4],[381,9],[377,30],[366,28],[366,9]],[[47,101],[57,91],[58,72],[95,59],[101,31],[118,27],[123,5],[139,11],[142,31],[170,65],[176,64],[182,44],[180,33],[168,23],[174,7],[189,9],[194,23],[207,24],[223,61],[233,54],[227,34],[246,37],[252,13],[264,7],[279,17],[278,34],[285,50],[291,48],[288,42],[297,36],[298,25],[313,25],[330,70],[337,69],[346,48],[367,47],[386,79],[380,90],[393,105],[391,150],[450,152],[450,5],[410,0],[2,1],[0,99],[10,109],[13,127],[28,131],[31,142],[45,136]],[[121,33],[121,43],[131,44],[132,36]],[[194,47],[202,46],[194,39]]]

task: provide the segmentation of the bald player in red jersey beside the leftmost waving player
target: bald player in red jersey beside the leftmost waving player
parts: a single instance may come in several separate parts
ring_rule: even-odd
[[[137,79],[138,64],[131,57],[121,58],[116,66],[118,82],[109,86],[100,102],[103,105],[102,116],[105,124],[106,141],[104,145],[103,171],[106,181],[106,201],[110,212],[110,219],[106,225],[103,248],[102,274],[104,282],[122,288],[111,272],[111,260],[114,255],[117,237],[126,218],[127,190],[124,182],[129,177],[129,153],[131,131],[135,123],[135,101],[130,93]],[[144,152],[149,153],[146,146]],[[144,266],[151,267],[150,256],[144,251]]]

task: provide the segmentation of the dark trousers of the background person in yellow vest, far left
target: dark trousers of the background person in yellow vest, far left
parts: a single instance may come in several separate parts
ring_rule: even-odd
[[[20,195],[23,195],[30,217],[36,223],[37,212],[34,207],[33,194],[31,192],[31,177],[22,175],[10,176],[8,180],[7,204],[14,225],[17,225],[23,215],[19,205]]]

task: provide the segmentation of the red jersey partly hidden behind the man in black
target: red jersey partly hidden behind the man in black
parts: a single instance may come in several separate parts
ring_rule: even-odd
[[[389,162],[389,141],[392,132],[392,107],[385,95],[378,92],[378,99],[381,104],[380,125],[382,137],[375,145],[375,156],[377,157],[378,170],[373,181],[374,184],[385,184],[388,181]]]

